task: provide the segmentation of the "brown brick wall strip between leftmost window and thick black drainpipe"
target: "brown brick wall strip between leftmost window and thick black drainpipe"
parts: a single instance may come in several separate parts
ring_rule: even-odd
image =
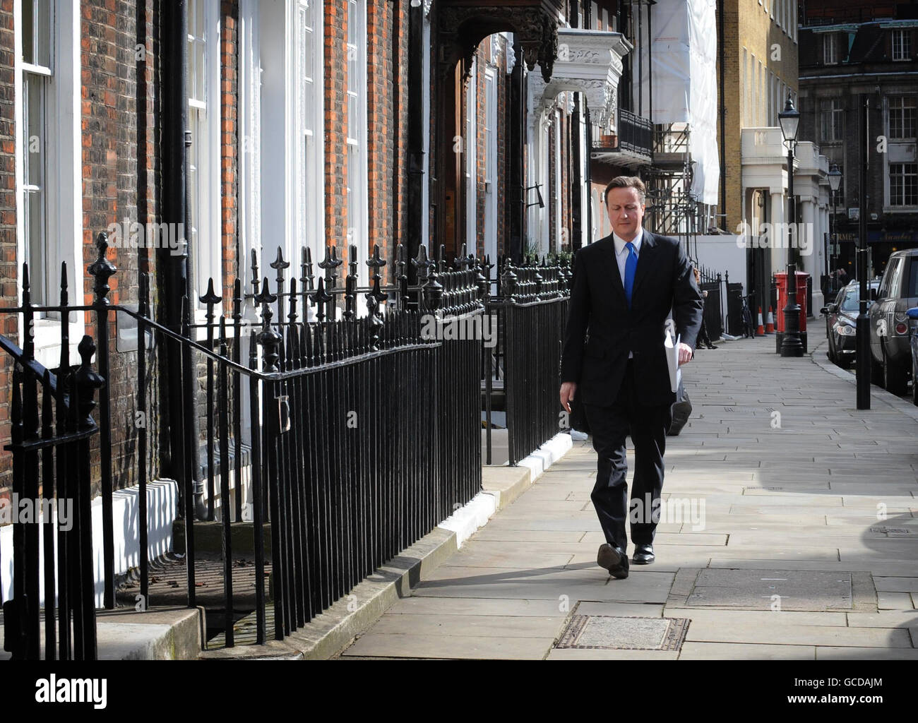
[[[156,147],[158,17],[155,0],[84,0],[81,6],[81,78],[83,140],[83,301],[93,298],[93,278],[85,273],[95,261],[95,237],[109,224],[158,219],[159,188]],[[140,46],[140,48],[139,48]],[[140,268],[154,278],[150,249],[122,246],[108,250],[118,269],[111,277],[112,304],[137,304]],[[140,268],[139,268],[140,267]],[[153,303],[155,289],[151,290]],[[74,301],[79,299],[75,295]],[[86,315],[86,331],[95,337],[95,315]],[[116,487],[135,484],[137,475],[135,411],[137,352],[118,351],[116,315],[109,317],[109,394],[111,399],[112,478]],[[159,379],[157,351],[148,353],[147,426],[151,449],[162,432],[155,414]],[[76,360],[72,360],[75,362]],[[98,437],[94,438],[98,445]],[[151,462],[151,472],[155,462]],[[93,477],[98,479],[99,450],[94,450]]]

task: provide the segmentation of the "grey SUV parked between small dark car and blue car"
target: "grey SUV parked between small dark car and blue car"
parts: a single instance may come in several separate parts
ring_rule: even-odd
[[[912,374],[906,312],[918,306],[918,249],[894,251],[870,306],[870,376],[894,395],[904,395]]]

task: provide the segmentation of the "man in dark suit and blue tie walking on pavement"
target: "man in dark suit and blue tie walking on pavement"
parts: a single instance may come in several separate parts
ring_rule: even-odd
[[[692,358],[703,309],[678,240],[642,228],[644,194],[644,183],[632,176],[613,178],[606,187],[612,235],[577,251],[561,358],[561,406],[571,412],[572,400],[582,405],[599,455],[591,498],[606,543],[597,564],[620,579],[629,570],[629,517],[633,562],[655,560],[666,430],[676,401],[664,347],[666,318],[671,311],[682,364]],[[629,434],[631,515],[625,481]]]

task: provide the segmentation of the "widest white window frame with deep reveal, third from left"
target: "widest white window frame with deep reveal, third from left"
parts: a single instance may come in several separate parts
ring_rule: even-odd
[[[309,0],[312,13],[314,42],[312,65],[314,68],[314,97],[310,106],[312,132],[321,139],[315,146],[310,167],[313,168],[315,186],[306,190],[303,179],[308,169],[301,157],[306,120],[303,118],[303,84],[301,73],[301,44],[298,34],[301,0],[240,0],[240,85],[241,122],[244,124],[245,194],[242,203],[246,209],[247,239],[241,247],[246,254],[244,276],[246,291],[252,291],[249,266],[252,249],[258,252],[259,273],[269,279],[274,291],[276,273],[270,263],[280,247],[290,266],[285,270],[286,284],[297,279],[299,288],[300,260],[303,239],[312,255],[312,270],[318,277],[324,275],[318,264],[325,258],[325,119],[324,119],[324,3]],[[262,172],[264,169],[264,172]],[[301,223],[313,208],[312,219]],[[338,257],[346,259],[348,240],[338,239]],[[361,260],[365,251],[358,243]],[[243,260],[240,260],[243,265]],[[365,264],[363,264],[365,266]],[[338,273],[342,269],[339,268]],[[363,271],[363,270],[361,270]],[[242,275],[242,274],[241,274]],[[365,276],[364,276],[365,278]],[[289,285],[285,291],[289,291]],[[358,309],[360,306],[358,305]],[[298,313],[303,309],[298,307]],[[257,319],[255,305],[246,305],[246,313]],[[307,317],[315,317],[308,306]]]

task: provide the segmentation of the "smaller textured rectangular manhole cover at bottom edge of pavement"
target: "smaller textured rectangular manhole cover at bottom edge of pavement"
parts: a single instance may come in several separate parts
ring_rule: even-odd
[[[571,617],[556,648],[614,651],[677,651],[686,637],[686,617]]]

